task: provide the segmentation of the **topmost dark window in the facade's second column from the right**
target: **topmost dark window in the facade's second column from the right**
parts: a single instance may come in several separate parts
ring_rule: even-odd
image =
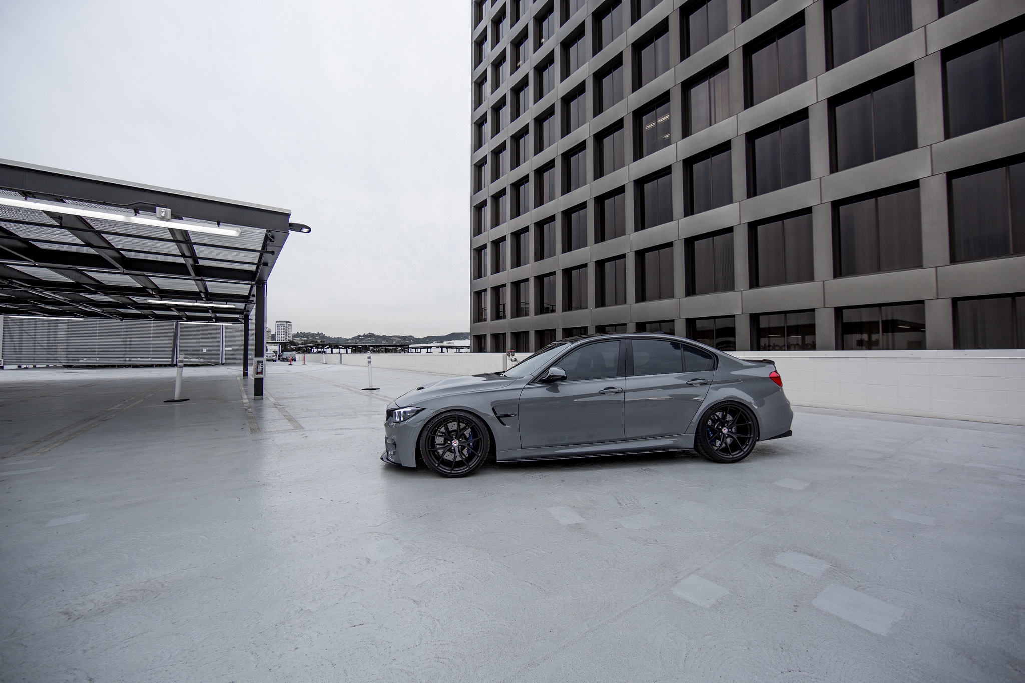
[[[828,13],[833,67],[911,32],[911,0],[846,0]]]

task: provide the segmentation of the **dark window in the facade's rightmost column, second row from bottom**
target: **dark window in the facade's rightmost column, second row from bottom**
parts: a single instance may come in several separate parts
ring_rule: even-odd
[[[948,177],[952,260],[1025,254],[1025,160]]]

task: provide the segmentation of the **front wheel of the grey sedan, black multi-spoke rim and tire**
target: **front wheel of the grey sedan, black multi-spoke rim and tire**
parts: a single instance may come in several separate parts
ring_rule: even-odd
[[[457,441],[453,446],[453,442]],[[491,433],[471,413],[451,411],[433,418],[420,432],[423,464],[443,477],[473,474],[491,453]]]

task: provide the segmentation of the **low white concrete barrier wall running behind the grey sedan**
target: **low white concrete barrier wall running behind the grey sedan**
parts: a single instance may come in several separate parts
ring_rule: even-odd
[[[375,353],[373,362],[389,370],[480,375],[502,370],[504,355]],[[737,351],[734,355],[775,360],[786,395],[795,405],[1025,425],[1025,350]],[[311,357],[306,356],[308,364]],[[367,365],[362,353],[334,357],[346,366]]]

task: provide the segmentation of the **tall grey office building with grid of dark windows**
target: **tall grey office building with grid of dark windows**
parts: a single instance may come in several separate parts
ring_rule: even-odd
[[[1025,347],[1025,3],[471,9],[475,351]]]

